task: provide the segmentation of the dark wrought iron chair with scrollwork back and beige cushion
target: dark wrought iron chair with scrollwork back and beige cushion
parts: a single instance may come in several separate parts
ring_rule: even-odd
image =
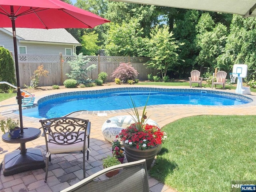
[[[85,178],[85,153],[89,157],[90,121],[74,117],[59,117],[39,120],[42,125],[46,142],[46,173],[51,154],[82,153]]]

